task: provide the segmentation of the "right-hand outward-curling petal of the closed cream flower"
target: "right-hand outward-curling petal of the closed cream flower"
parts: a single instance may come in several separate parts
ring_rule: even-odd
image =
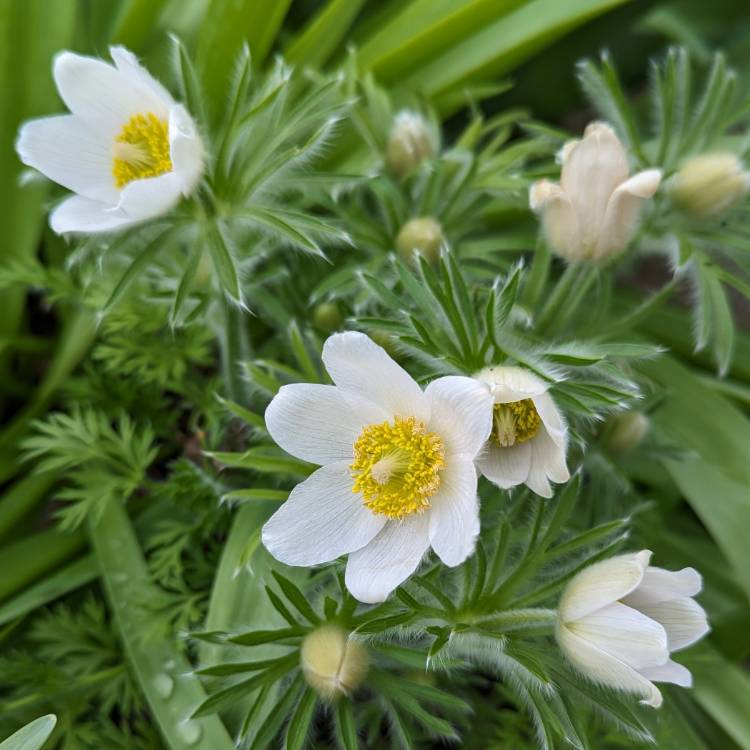
[[[623,250],[638,229],[643,202],[659,187],[661,172],[649,169],[623,182],[607,203],[596,257],[603,258]]]

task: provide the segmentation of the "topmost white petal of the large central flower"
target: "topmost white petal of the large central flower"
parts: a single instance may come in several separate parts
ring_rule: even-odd
[[[330,336],[323,346],[323,362],[339,388],[372,401],[394,417],[429,421],[430,406],[422,389],[363,333]]]

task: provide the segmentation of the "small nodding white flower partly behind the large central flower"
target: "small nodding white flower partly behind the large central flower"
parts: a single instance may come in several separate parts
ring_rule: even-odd
[[[486,367],[476,378],[494,400],[492,433],[477,458],[479,470],[498,487],[525,483],[550,497],[553,482],[567,482],[568,435],[547,384],[520,367]]]

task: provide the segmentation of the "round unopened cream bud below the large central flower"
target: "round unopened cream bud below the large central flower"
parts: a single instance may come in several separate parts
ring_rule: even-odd
[[[321,698],[354,692],[367,674],[367,649],[336,625],[322,625],[302,641],[300,664],[308,685]]]

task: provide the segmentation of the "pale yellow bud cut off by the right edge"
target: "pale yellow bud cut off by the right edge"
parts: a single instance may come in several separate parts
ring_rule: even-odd
[[[731,153],[701,154],[672,178],[669,196],[677,208],[698,219],[717,216],[747,193],[750,172]]]

